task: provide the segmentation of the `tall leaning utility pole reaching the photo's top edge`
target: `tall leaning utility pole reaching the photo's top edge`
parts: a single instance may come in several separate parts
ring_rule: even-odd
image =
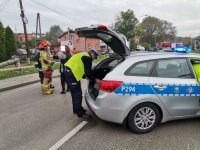
[[[28,23],[27,18],[24,15],[24,8],[22,5],[22,0],[19,0],[19,4],[20,4],[20,10],[21,10],[21,14],[20,16],[22,17],[22,22],[23,22],[23,26],[24,26],[24,34],[25,34],[25,41],[26,41],[26,50],[27,50],[27,63],[30,64],[30,50],[28,47],[28,36],[27,36],[27,30],[26,30],[26,24]]]

